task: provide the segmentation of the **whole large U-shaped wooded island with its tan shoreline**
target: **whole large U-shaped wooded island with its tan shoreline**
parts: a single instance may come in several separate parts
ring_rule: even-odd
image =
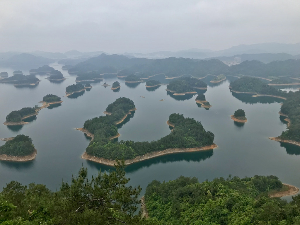
[[[92,137],[82,158],[107,165],[113,165],[115,159],[125,159],[126,164],[132,164],[160,155],[217,147],[213,143],[214,134],[211,131],[206,132],[201,122],[176,113],[171,114],[167,122],[174,127],[173,131],[157,141],[111,141],[112,137],[119,137],[116,125],[135,110],[132,100],[118,98],[106,108],[104,113],[107,116],[89,119],[85,121],[83,128],[77,128]]]

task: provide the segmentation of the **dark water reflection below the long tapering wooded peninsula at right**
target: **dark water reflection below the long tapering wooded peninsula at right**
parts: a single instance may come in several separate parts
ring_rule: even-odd
[[[231,91],[231,94],[233,97],[237,98],[241,102],[244,102],[246,104],[256,104],[256,103],[262,103],[262,104],[271,104],[271,103],[282,103],[283,99],[280,98],[274,98],[270,96],[259,96],[259,97],[252,97],[253,94],[245,94],[245,93],[235,93]]]

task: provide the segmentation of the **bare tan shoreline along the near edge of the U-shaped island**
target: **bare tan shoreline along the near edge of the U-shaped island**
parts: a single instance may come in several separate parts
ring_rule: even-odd
[[[217,148],[216,144],[212,144],[210,146],[204,146],[204,147],[198,147],[198,148],[177,148],[177,149],[165,149],[163,151],[159,151],[159,152],[150,152],[147,153],[145,155],[141,155],[141,156],[137,156],[134,159],[128,159],[125,160],[125,164],[126,165],[130,165],[130,164],[134,164],[140,161],[144,161],[147,159],[152,159],[152,158],[156,158],[162,155],[169,155],[169,154],[173,154],[173,153],[180,153],[180,152],[198,152],[198,151],[205,151],[205,150],[210,150],[210,149],[215,149]],[[114,160],[108,160],[105,158],[99,158],[96,156],[91,156],[88,155],[86,152],[84,152],[81,156],[81,158],[89,160],[89,161],[93,161],[96,163],[101,163],[107,166],[114,166],[114,164],[116,164],[116,161]]]

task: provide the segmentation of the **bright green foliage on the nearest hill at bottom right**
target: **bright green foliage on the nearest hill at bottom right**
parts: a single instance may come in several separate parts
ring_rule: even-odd
[[[276,176],[229,176],[202,183],[181,176],[169,182],[152,181],[145,199],[149,216],[162,224],[299,224],[300,195],[290,203],[267,195],[282,186]]]

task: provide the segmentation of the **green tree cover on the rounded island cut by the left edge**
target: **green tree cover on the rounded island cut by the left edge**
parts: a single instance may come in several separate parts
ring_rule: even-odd
[[[0,146],[0,155],[26,156],[34,151],[35,146],[32,144],[32,139],[24,134],[19,134],[13,140],[9,140]]]

